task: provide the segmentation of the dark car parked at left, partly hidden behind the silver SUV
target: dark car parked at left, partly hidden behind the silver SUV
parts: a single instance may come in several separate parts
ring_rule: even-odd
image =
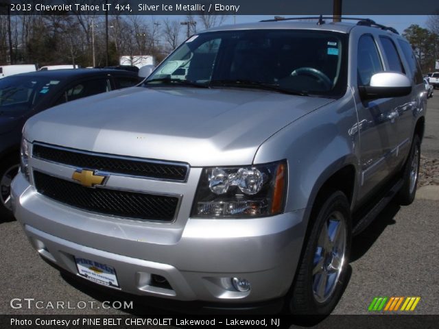
[[[0,219],[12,216],[10,182],[18,171],[21,130],[32,115],[67,101],[134,86],[137,73],[112,69],[38,71],[0,80]]]

